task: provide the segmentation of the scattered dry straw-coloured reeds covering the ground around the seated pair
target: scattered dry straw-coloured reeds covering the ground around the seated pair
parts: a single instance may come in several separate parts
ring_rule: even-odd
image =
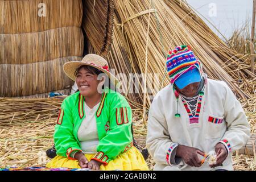
[[[46,150],[52,147],[53,132],[59,107],[63,99],[13,99],[0,98],[0,168],[45,166],[49,162]],[[256,114],[251,112],[255,99],[243,101],[251,125],[256,131]],[[146,125],[142,122],[142,109],[133,109],[134,135],[146,136]],[[142,142],[144,143],[144,142]],[[144,147],[144,146],[143,146]],[[154,160],[148,158],[148,167]],[[256,155],[233,154],[235,170],[256,170]]]

